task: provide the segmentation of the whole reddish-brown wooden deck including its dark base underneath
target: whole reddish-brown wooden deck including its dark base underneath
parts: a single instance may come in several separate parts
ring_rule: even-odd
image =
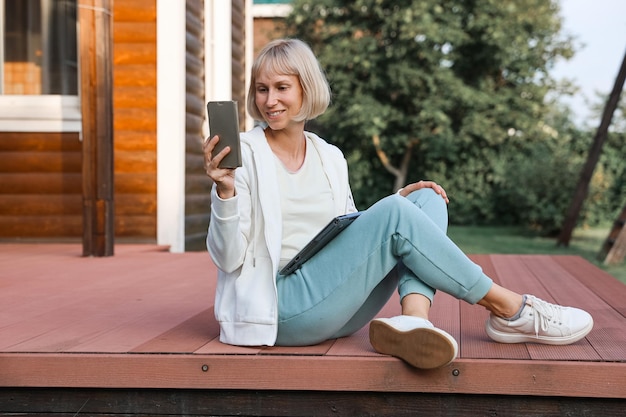
[[[579,257],[472,256],[496,281],[588,310],[564,347],[502,345],[487,312],[438,293],[459,342],[433,371],[372,350],[367,328],[303,348],[217,339],[208,254],[118,245],[0,244],[0,414],[623,415],[626,286]],[[398,314],[393,298],[381,316]]]

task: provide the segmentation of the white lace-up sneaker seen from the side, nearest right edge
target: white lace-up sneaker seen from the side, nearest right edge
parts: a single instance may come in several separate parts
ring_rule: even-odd
[[[487,335],[500,343],[568,345],[587,336],[593,328],[593,318],[584,310],[526,295],[519,319],[509,321],[491,314],[485,327]]]

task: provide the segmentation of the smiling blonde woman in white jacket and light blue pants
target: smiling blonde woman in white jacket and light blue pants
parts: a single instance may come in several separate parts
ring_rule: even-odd
[[[372,205],[291,275],[278,273],[333,217],[355,212],[343,154],[313,133],[330,89],[302,41],[268,44],[252,67],[247,108],[263,123],[241,134],[243,166],[222,169],[204,144],[213,180],[207,247],[217,265],[220,340],[310,345],[370,323],[383,354],[422,368],[456,358],[456,341],[428,321],[436,290],[487,308],[503,343],[568,344],[593,327],[585,311],[521,295],[487,277],[446,236],[448,198],[435,182],[409,184]],[[372,318],[400,294],[402,315]]]

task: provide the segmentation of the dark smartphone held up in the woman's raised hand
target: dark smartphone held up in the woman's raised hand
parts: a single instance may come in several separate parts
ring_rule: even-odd
[[[239,117],[237,116],[236,101],[209,101],[209,135],[218,135],[220,141],[215,146],[213,154],[230,146],[230,153],[226,155],[220,168],[237,168],[241,166],[241,146],[239,142]]]

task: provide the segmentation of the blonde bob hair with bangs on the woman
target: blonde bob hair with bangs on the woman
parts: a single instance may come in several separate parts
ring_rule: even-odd
[[[330,86],[317,58],[299,39],[277,39],[268,43],[252,64],[247,108],[253,119],[264,121],[255,103],[256,80],[262,72],[270,75],[295,75],[302,87],[302,108],[294,117],[301,122],[315,119],[330,104]]]

